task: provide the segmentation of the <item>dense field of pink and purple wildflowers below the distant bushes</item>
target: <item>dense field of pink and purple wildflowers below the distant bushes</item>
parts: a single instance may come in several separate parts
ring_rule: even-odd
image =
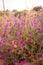
[[[6,65],[43,64],[43,11],[39,12],[0,21],[0,59]]]

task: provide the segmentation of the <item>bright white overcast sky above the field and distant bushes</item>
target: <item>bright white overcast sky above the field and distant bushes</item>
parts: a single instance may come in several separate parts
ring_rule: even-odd
[[[5,9],[8,10],[31,10],[35,6],[43,6],[43,0],[4,0]],[[0,0],[0,10],[3,10],[2,0]]]

